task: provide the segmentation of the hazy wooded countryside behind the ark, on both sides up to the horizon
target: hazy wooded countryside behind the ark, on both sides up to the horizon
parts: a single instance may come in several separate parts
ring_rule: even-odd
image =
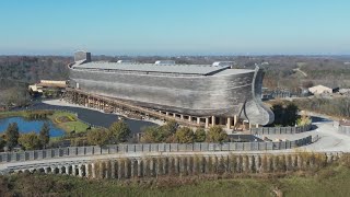
[[[234,61],[234,68],[265,69],[264,86],[269,90],[324,84],[350,88],[349,56],[93,56],[93,60],[117,61],[128,59],[154,62],[171,59],[176,63],[211,65],[213,61]],[[28,102],[27,85],[42,79],[68,80],[67,65],[72,57],[60,56],[0,56],[0,106],[23,105]]]

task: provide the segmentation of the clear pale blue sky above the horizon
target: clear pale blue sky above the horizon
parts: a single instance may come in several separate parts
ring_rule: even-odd
[[[0,55],[349,55],[349,0],[1,0]]]

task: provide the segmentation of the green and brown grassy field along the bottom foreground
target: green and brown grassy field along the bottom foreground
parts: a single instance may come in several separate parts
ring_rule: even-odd
[[[91,181],[67,175],[13,174],[0,176],[0,196],[350,196],[350,169],[328,166],[289,175],[161,177],[130,181]]]

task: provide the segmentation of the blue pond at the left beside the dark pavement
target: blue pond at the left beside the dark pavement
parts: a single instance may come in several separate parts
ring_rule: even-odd
[[[65,135],[65,131],[60,128],[57,128],[50,120],[27,120],[23,117],[9,117],[0,119],[0,132],[7,130],[10,123],[16,123],[21,134],[26,132],[39,132],[44,123],[48,123],[50,127],[50,137],[61,137]]]

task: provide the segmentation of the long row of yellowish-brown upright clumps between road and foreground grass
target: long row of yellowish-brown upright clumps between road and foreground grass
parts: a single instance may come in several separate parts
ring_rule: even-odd
[[[28,171],[43,171],[88,178],[158,177],[161,175],[197,175],[222,173],[288,172],[324,167],[337,160],[337,154],[230,154],[176,155],[103,160],[86,164],[55,165]]]

